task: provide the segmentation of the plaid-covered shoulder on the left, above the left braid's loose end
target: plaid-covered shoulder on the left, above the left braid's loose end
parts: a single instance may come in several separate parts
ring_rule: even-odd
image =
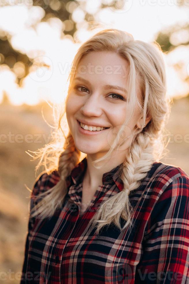
[[[33,183],[31,190],[31,197],[37,196],[39,193],[45,192],[51,187],[55,186],[59,181],[60,176],[57,171],[47,174],[46,171],[41,172]]]

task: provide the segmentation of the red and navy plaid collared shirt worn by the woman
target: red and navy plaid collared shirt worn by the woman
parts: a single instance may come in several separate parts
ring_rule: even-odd
[[[98,205],[123,189],[119,165],[103,174],[88,210],[80,215],[84,158],[67,178],[68,192],[52,218],[30,215],[23,283],[189,283],[189,176],[181,168],[153,163],[141,186],[130,194],[134,227],[120,232],[105,226],[99,236],[86,228]],[[42,173],[35,196],[59,181]],[[121,219],[121,225],[124,221]]]

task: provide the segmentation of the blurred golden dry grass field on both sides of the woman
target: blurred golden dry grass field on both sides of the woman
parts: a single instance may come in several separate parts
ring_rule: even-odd
[[[166,164],[181,167],[187,174],[189,174],[188,110],[189,97],[174,100],[170,121],[167,125],[167,130],[171,134],[171,141],[167,147],[170,152],[166,159],[161,160]],[[47,121],[50,122],[52,120],[50,107],[46,106],[44,114]],[[25,141],[26,135],[33,135],[33,141],[37,137],[36,134],[44,134],[44,137],[48,137],[50,127],[42,119],[41,105],[16,107],[2,104],[0,105],[0,124],[1,134],[5,134],[7,140],[6,143],[1,143],[0,147],[0,262],[1,271],[7,273],[9,270],[16,273],[21,272],[22,269],[27,232],[30,192],[26,189],[25,184],[31,189],[36,178],[34,170],[37,161],[31,161],[32,158],[25,151],[35,151],[46,143],[42,136],[38,142],[27,143]],[[13,134],[14,137],[8,137],[8,134],[9,136]],[[15,141],[16,134],[21,134],[20,138],[17,136],[17,142]],[[22,139],[22,135],[24,139]],[[22,142],[18,143],[18,141]],[[38,174],[42,170],[44,168],[41,168]],[[19,283],[18,273],[16,275],[12,274],[11,276],[14,280],[7,279],[3,282]],[[3,277],[10,278],[8,274],[3,274]]]

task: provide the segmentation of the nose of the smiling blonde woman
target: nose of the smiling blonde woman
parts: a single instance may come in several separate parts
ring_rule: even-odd
[[[102,101],[99,93],[91,94],[83,103],[81,112],[84,116],[100,116],[102,114]]]

